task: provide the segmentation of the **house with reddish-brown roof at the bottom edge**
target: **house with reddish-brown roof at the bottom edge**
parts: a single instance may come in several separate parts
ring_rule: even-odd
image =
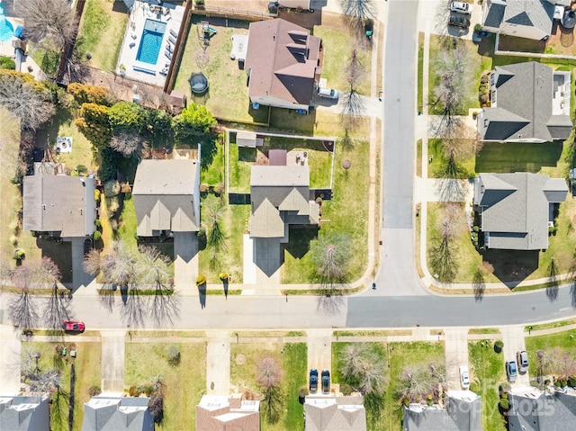
[[[260,431],[260,401],[242,400],[241,394],[202,395],[196,406],[196,430]]]

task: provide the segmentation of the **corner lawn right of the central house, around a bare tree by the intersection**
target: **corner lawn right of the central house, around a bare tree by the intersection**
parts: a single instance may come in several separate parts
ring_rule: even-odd
[[[319,236],[338,232],[350,237],[353,246],[350,250],[349,279],[355,281],[361,274],[364,274],[368,247],[369,144],[358,140],[352,148],[342,148],[338,142],[336,145],[334,196],[331,200],[322,202],[323,222]],[[348,170],[342,168],[344,159],[352,162]],[[354,222],[350,221],[350,214],[355,214]],[[302,234],[304,233],[310,234],[311,232],[302,231]],[[291,237],[291,241],[293,239],[296,238]],[[314,271],[310,254],[307,253],[308,239],[296,239],[302,244],[295,250],[291,246],[286,247],[284,265],[281,270],[282,283],[310,283],[312,281],[310,277]]]

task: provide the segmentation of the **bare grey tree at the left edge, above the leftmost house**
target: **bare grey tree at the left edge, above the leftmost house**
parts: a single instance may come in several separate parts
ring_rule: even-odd
[[[0,106],[20,119],[22,129],[36,130],[54,114],[47,91],[6,72],[0,73]]]

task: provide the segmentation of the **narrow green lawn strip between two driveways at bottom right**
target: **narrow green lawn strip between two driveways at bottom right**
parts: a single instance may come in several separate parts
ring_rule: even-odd
[[[470,389],[482,397],[482,429],[505,431],[504,420],[498,410],[498,386],[506,382],[504,356],[494,352],[491,342],[485,340],[469,343],[468,357],[472,365]]]

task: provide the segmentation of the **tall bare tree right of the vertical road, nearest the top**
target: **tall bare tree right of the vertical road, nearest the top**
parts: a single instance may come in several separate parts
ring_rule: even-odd
[[[466,45],[458,43],[454,49],[441,49],[434,65],[439,82],[434,88],[436,100],[432,105],[439,104],[441,114],[432,124],[432,132],[437,137],[450,137],[451,129],[461,126],[462,121],[456,115],[465,103],[471,83]]]

